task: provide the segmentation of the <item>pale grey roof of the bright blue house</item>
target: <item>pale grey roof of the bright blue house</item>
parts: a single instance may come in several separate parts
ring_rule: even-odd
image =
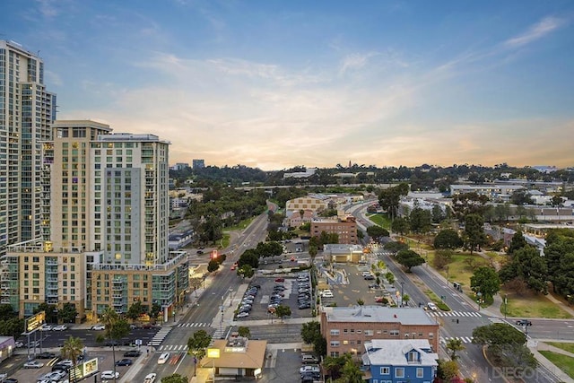
[[[370,361],[370,365],[390,365],[390,366],[438,366],[439,354],[428,353],[431,344],[427,339],[373,339],[365,342],[367,353],[362,355],[363,362]],[[409,362],[406,360],[406,353],[416,351],[421,354],[421,362]]]

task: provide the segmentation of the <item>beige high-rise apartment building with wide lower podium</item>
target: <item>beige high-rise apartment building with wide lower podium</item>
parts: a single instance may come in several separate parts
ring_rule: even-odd
[[[53,128],[42,145],[43,235],[10,247],[2,283],[21,283],[2,298],[23,316],[43,301],[73,304],[78,320],[141,301],[169,318],[188,288],[186,253],[168,248],[169,143],[93,121]]]

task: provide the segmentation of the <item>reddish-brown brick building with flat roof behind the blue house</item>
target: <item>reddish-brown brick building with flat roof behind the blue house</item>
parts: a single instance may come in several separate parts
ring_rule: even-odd
[[[380,306],[326,307],[321,313],[326,354],[359,357],[373,339],[427,339],[439,351],[439,324],[424,309]]]

